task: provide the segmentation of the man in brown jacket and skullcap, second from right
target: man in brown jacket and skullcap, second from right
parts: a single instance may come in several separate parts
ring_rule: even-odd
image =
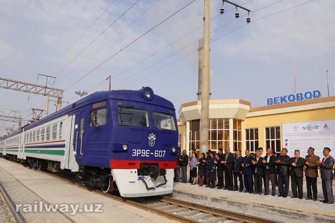
[[[319,177],[318,175],[318,165],[317,161],[320,160],[320,157],[314,155],[314,148],[309,147],[307,150],[307,156],[305,158],[305,177],[306,177],[306,187],[307,187],[307,198],[306,200],[312,199],[313,191],[313,200],[318,200],[318,188],[316,187],[316,181]]]

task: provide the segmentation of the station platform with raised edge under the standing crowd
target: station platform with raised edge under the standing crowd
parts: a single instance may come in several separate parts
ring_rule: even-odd
[[[291,179],[290,179],[291,180]],[[216,181],[217,183],[217,181]],[[238,191],[218,190],[199,187],[198,184],[174,183],[173,198],[216,207],[224,210],[263,217],[278,222],[294,223],[335,223],[335,204],[324,204],[321,178],[317,181],[318,201],[306,200],[306,184],[303,182],[303,199],[291,198],[291,182],[288,197],[259,195]],[[264,188],[263,188],[264,190]],[[271,190],[271,185],[270,185]],[[333,190],[335,186],[333,184]]]

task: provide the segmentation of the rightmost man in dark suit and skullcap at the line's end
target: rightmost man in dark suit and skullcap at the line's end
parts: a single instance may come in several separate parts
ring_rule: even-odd
[[[333,199],[333,166],[334,158],[329,155],[331,149],[325,147],[323,149],[323,155],[325,156],[322,161],[318,161],[317,164],[321,167],[321,179],[322,179],[322,191],[324,200],[323,203],[334,204]]]

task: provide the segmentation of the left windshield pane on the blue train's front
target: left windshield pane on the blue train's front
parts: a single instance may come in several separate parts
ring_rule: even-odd
[[[148,112],[132,108],[118,108],[118,124],[121,126],[149,127]]]

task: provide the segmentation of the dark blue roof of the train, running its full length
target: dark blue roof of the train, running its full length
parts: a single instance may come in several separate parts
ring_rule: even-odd
[[[38,125],[41,125],[43,123],[46,123],[50,120],[70,114],[71,112],[87,104],[92,104],[92,103],[100,102],[100,101],[107,100],[107,99],[119,99],[119,100],[128,100],[128,101],[134,101],[134,102],[143,102],[143,103],[148,103],[148,104],[156,104],[156,105],[160,105],[163,107],[167,107],[168,109],[171,109],[171,110],[175,110],[172,102],[165,99],[164,97],[154,95],[152,99],[150,100],[145,99],[145,97],[143,96],[143,89],[146,89],[146,88],[148,87],[145,87],[145,88],[143,87],[140,90],[112,90],[112,91],[95,92],[89,96],[86,96],[66,106],[65,108],[62,108],[61,110],[55,113],[48,115],[45,118],[42,118],[24,128],[17,130],[16,132],[13,132],[7,135],[6,138],[19,134],[20,132],[23,131],[23,129],[28,130]],[[3,138],[0,139],[0,141],[2,140]]]

